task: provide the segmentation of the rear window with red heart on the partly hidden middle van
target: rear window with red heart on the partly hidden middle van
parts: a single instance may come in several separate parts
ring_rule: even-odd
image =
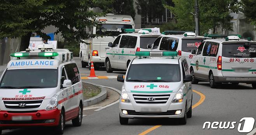
[[[203,39],[182,39],[181,50],[187,53],[191,53],[191,50],[197,49],[202,41]]]

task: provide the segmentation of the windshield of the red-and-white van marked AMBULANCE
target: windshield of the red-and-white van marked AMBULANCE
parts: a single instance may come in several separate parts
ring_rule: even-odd
[[[0,89],[55,88],[57,82],[57,69],[15,69],[5,72]]]

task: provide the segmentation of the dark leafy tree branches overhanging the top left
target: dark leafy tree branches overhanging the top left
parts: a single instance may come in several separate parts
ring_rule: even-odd
[[[113,0],[3,0],[0,4],[0,38],[21,37],[20,50],[28,47],[33,32],[44,39],[50,37],[41,30],[55,26],[65,41],[83,42],[96,35],[87,33],[86,28],[96,26],[95,13],[91,8],[107,9]]]

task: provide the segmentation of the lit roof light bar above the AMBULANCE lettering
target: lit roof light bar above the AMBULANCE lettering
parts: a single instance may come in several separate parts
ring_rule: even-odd
[[[39,52],[39,53],[11,53],[10,56],[12,57],[55,57],[59,54],[56,52]]]

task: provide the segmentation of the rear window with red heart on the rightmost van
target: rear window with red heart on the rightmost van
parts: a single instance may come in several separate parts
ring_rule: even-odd
[[[223,44],[222,56],[228,58],[256,58],[256,44]]]

